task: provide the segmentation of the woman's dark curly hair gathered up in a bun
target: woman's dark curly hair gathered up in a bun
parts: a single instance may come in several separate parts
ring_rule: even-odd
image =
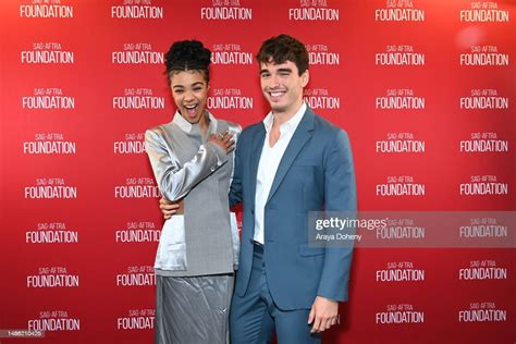
[[[179,72],[197,71],[202,73],[206,83],[210,81],[211,51],[198,40],[175,41],[164,54],[165,73],[169,77]]]

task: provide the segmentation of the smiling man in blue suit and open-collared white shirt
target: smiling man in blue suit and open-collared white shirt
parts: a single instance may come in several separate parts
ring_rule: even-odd
[[[245,128],[230,193],[243,201],[239,268],[231,306],[233,344],[320,343],[347,299],[349,247],[311,247],[309,211],[356,210],[347,135],[303,101],[308,53],[280,35],[257,54],[271,112]],[[162,207],[163,208],[163,207]]]

